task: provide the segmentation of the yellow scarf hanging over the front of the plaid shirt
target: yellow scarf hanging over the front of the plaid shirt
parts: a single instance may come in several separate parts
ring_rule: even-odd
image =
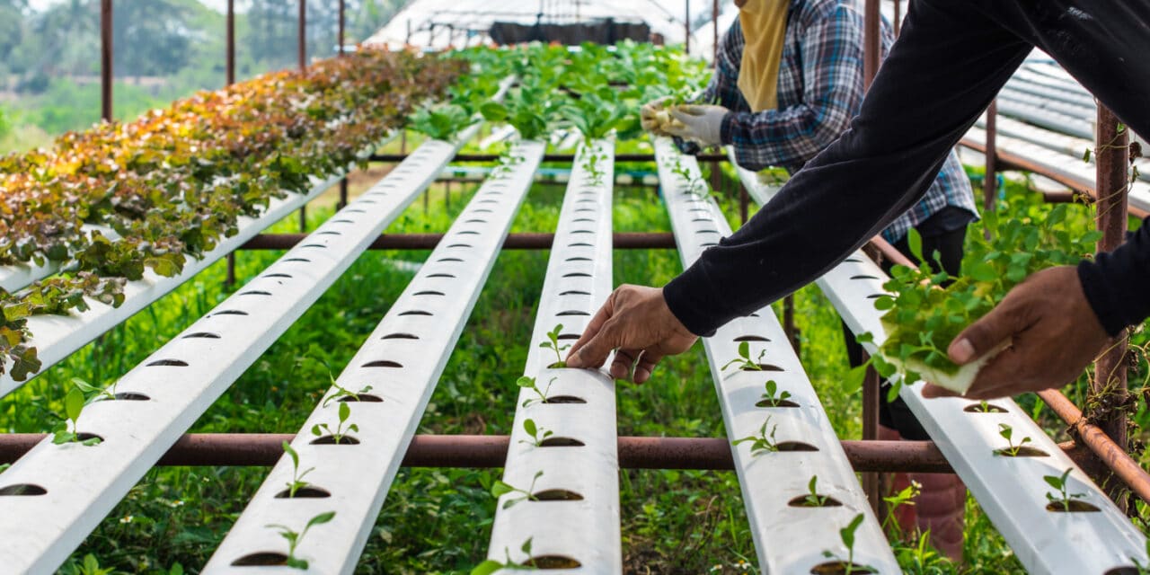
[[[738,68],[738,90],[751,112],[779,107],[779,63],[787,36],[787,9],[790,0],[747,0],[738,9],[743,28],[743,60]]]

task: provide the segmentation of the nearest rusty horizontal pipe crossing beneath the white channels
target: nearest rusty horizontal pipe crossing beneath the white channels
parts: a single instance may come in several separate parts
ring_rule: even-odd
[[[45,434],[0,435],[0,463],[14,462],[47,437]],[[261,466],[283,455],[291,434],[184,435],[159,466]],[[404,455],[405,467],[503,467],[508,436],[417,435]],[[842,442],[856,471],[951,473],[933,442]],[[620,437],[623,469],[731,470],[730,444],[718,437]]]

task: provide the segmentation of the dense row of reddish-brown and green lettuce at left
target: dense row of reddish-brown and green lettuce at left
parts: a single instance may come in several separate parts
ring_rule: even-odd
[[[187,258],[235,235],[240,216],[359,161],[463,66],[365,49],[0,159],[0,264],[55,262],[63,271],[0,292],[10,376],[40,368],[28,317],[84,310],[85,296],[118,305],[124,283],[145,269],[179,274]]]

